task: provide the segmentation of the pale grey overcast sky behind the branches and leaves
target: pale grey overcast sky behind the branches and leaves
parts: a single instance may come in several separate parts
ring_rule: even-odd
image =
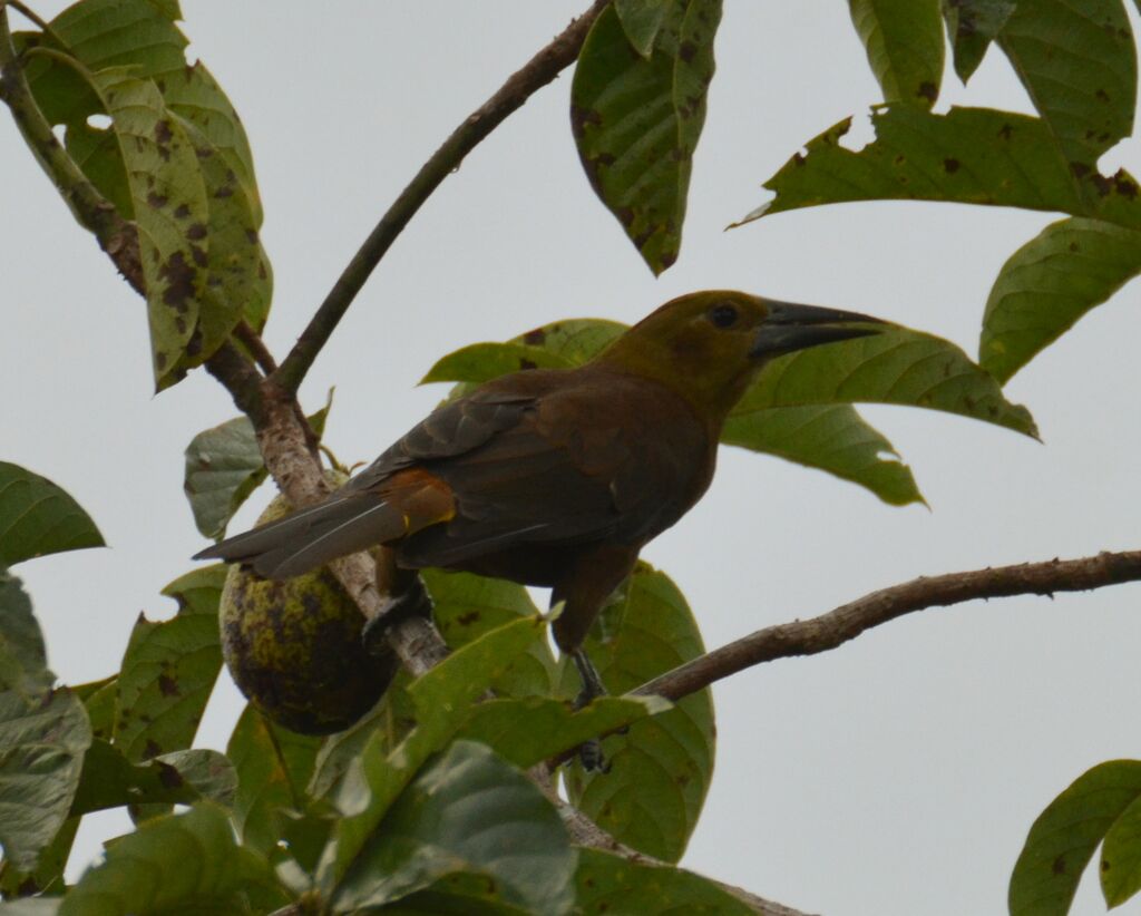
[[[424,157],[585,2],[184,0],[192,57],[253,146],[275,352]],[[327,441],[342,459],[371,459],[430,410],[442,389],[415,382],[456,347],[560,317],[631,322],[695,289],[865,310],[974,352],[1000,266],[1053,217],[849,204],[722,233],[803,141],[879,96],[839,2],[727,0],[717,56],[677,266],[654,279],[591,193],[565,75],[447,179],[316,364],[304,399],[315,407],[337,386]],[[994,50],[969,90],[948,78],[938,110],[952,102],[1030,111]],[[1104,164],[1141,172],[1138,153],[1124,144]],[[111,544],[18,569],[52,667],[81,682],[118,667],[140,609],[172,610],[159,590],[203,545],[183,449],[235,411],[202,373],[151,395],[141,301],[10,123],[0,175],[0,457],[68,489]],[[645,557],[685,591],[712,647],[916,575],[1138,548],[1139,331],[1130,286],[1009,386],[1044,445],[946,414],[866,408],[930,512],[726,449],[704,502]],[[926,611],[720,683],[717,772],[683,865],[831,915],[1003,911],[1042,806],[1097,762],[1141,757],[1139,598],[1132,585]],[[240,708],[224,675],[200,745],[224,747]],[[124,822],[84,821],[76,861]],[[1095,879],[1083,882],[1074,911],[1103,907]]]

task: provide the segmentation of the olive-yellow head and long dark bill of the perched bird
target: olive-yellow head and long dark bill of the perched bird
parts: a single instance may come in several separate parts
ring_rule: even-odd
[[[702,415],[720,420],[774,357],[875,334],[882,325],[855,311],[706,290],[650,313],[599,362],[654,379],[686,397]]]

